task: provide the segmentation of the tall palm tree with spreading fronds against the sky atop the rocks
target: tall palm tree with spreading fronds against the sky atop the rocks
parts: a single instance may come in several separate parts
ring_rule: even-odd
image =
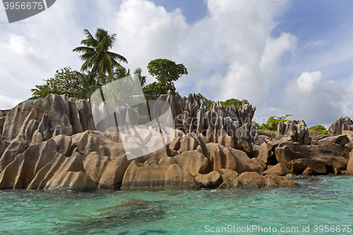
[[[114,68],[120,67],[119,62],[128,63],[124,56],[109,52],[116,40],[116,34],[109,35],[107,30],[97,28],[95,37],[87,29],[83,30],[86,39],[81,41],[85,47],[76,47],[73,52],[82,52],[80,59],[85,61],[81,71],[90,69],[90,76],[99,73],[112,73]]]

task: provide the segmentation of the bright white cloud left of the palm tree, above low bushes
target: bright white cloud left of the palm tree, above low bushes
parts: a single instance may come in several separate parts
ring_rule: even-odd
[[[76,25],[76,13],[70,11],[75,5],[56,2],[30,19],[1,25],[0,109],[28,99],[30,89],[54,77],[56,70],[80,68],[78,55],[71,52],[83,39],[83,27]]]

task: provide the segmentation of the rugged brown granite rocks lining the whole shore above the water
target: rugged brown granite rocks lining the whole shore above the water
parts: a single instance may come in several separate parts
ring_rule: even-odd
[[[294,174],[353,174],[348,117],[313,138],[304,121],[281,122],[274,137],[258,135],[251,104],[206,111],[194,94],[158,100],[170,104],[176,137],[136,159],[124,134],[95,130],[89,100],[48,95],[0,111],[0,189],[276,188],[299,186]]]

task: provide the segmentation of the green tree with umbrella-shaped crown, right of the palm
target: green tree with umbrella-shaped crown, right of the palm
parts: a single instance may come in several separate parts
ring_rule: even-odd
[[[156,97],[164,95],[168,90],[175,92],[174,81],[182,75],[188,74],[183,64],[175,64],[169,59],[155,59],[148,63],[148,73],[157,79],[157,82],[150,83],[143,88],[144,92],[150,91]]]

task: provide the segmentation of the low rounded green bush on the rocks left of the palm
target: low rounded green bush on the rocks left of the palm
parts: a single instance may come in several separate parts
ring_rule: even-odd
[[[35,89],[31,89],[31,100],[46,97],[49,94],[65,94],[74,98],[80,98],[83,95],[78,71],[72,71],[70,67],[61,68],[61,71],[57,70],[54,78],[44,79],[44,81],[44,85],[35,85]]]

